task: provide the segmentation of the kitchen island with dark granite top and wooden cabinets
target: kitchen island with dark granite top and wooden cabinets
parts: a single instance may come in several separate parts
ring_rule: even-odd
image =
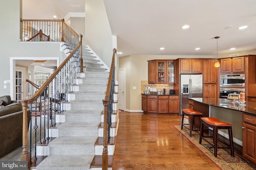
[[[214,104],[206,98],[188,98],[194,110],[208,106],[209,117],[232,124],[233,141],[242,147],[242,156],[256,164],[256,103],[247,101],[246,106],[237,107],[232,100],[217,99]],[[228,131],[221,129],[219,135],[228,139]]]

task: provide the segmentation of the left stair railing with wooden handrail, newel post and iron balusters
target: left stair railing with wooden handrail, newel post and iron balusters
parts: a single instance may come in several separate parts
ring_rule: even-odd
[[[66,31],[66,29],[69,29],[69,28],[70,27],[68,25],[65,26],[64,31]],[[73,92],[72,89],[70,90],[69,88],[71,88],[71,86],[73,85],[76,85],[75,78],[80,78],[80,73],[83,72],[83,70],[80,70],[80,68],[82,68],[82,35],[78,35],[77,33],[73,32],[73,30],[71,29],[69,30],[71,33],[67,31],[66,35],[63,35],[63,40],[65,41],[65,43],[67,43],[68,45],[72,45],[72,47],[70,48],[71,52],[68,55],[68,57],[60,64],[60,66],[52,73],[52,75],[37,90],[37,92],[35,92],[35,94],[31,98],[29,98],[28,100],[21,101],[22,108],[23,108],[23,121],[22,121],[23,127],[22,127],[22,155],[20,156],[20,160],[28,161],[29,167],[32,161],[31,161],[31,153],[30,153],[31,148],[30,150],[28,149],[28,131],[27,131],[28,120],[26,116],[28,104],[31,105],[32,102],[36,102],[38,98],[41,104],[41,95],[45,93],[45,90],[47,88],[48,88],[47,98],[50,100],[52,98],[57,98],[56,96],[59,96],[64,92]],[[80,72],[80,73],[76,74],[76,72]],[[32,82],[30,83],[33,84]],[[51,95],[49,95],[49,91],[51,92]],[[58,95],[56,95],[56,92],[58,92],[57,93]],[[46,98],[45,96],[46,95],[44,95],[44,98]],[[40,106],[39,109],[40,111],[38,112],[40,112],[40,116],[41,116],[42,106]],[[46,113],[42,113],[42,114],[46,116]],[[49,116],[51,117],[52,115],[49,115]],[[41,142],[41,133],[40,133],[40,142]],[[31,142],[30,142],[30,147],[31,147]],[[35,156],[34,160],[36,159],[37,158]]]

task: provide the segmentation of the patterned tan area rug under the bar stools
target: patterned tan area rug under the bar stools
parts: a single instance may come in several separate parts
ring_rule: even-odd
[[[214,156],[214,148],[206,141],[202,140],[202,145],[199,144],[199,131],[192,131],[192,137],[189,136],[189,130],[180,126],[174,126],[182,135],[188,139],[194,146],[202,151],[212,162],[222,168],[222,170],[255,170],[252,165],[248,164],[240,157],[233,158],[230,155],[230,149],[218,149],[217,157]],[[210,138],[208,139],[211,140]]]

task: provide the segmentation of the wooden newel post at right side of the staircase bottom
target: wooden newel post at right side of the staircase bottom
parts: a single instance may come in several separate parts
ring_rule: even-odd
[[[102,100],[104,105],[104,131],[103,131],[103,152],[102,152],[102,170],[108,169],[108,100]]]

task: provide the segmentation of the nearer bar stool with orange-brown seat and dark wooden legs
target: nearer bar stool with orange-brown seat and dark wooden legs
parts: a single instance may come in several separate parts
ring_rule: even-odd
[[[204,136],[204,125],[213,128],[213,136]],[[218,129],[228,129],[229,145],[227,147],[218,147]],[[213,144],[205,138],[213,138]],[[233,134],[232,124],[219,121],[214,117],[202,117],[201,118],[201,129],[199,143],[202,144],[202,139],[214,147],[214,156],[217,157],[217,149],[230,149],[231,156],[234,157],[234,145],[233,145]]]

